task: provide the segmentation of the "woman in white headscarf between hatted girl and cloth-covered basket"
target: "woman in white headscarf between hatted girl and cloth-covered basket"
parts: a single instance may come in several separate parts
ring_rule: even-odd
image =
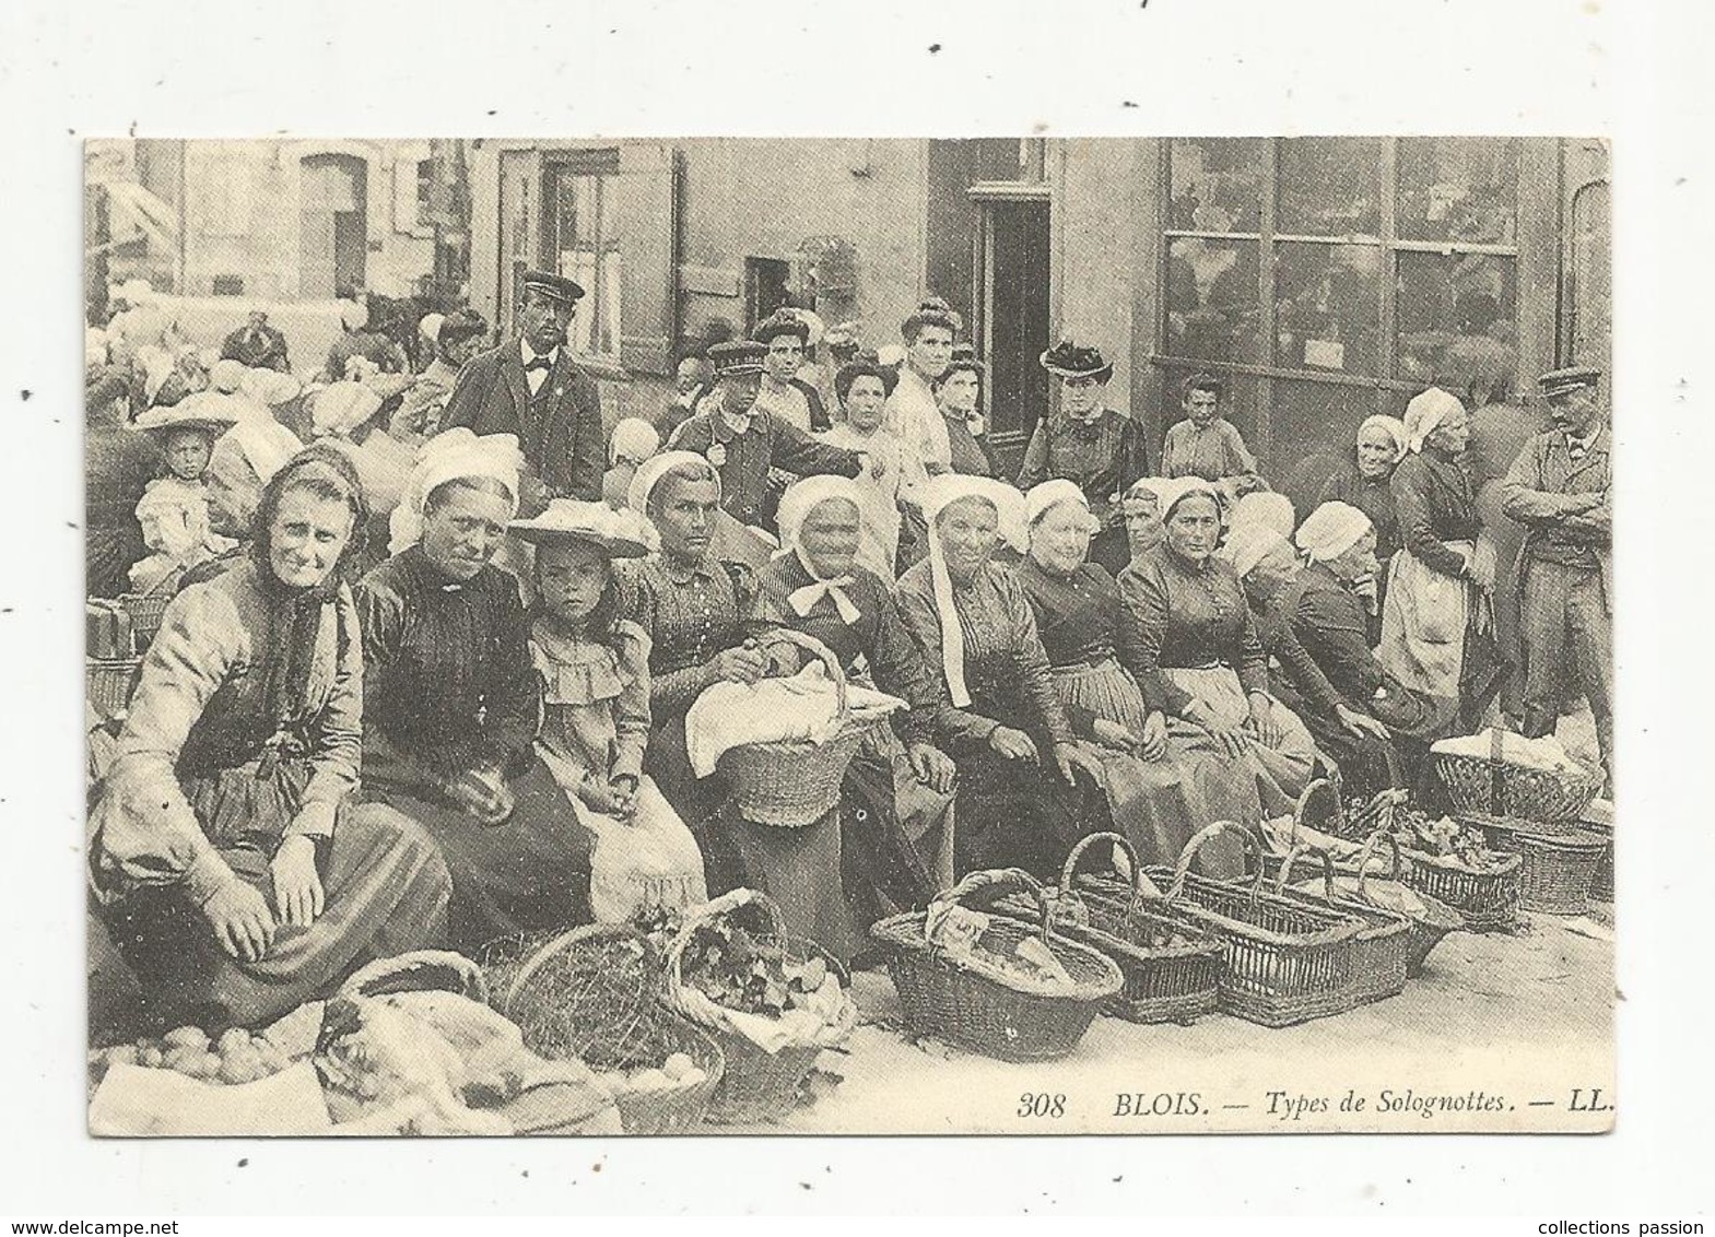
[[[648,518],[660,552],[619,571],[621,612],[650,637],[653,733],[643,769],[691,827],[710,894],[744,884],[731,829],[722,822],[720,775],[698,779],[684,746],[684,715],[703,688],[755,683],[765,661],[749,640],[761,626],[756,575],[715,551],[720,474],[695,451],[652,456],[631,480],[631,510]]]

